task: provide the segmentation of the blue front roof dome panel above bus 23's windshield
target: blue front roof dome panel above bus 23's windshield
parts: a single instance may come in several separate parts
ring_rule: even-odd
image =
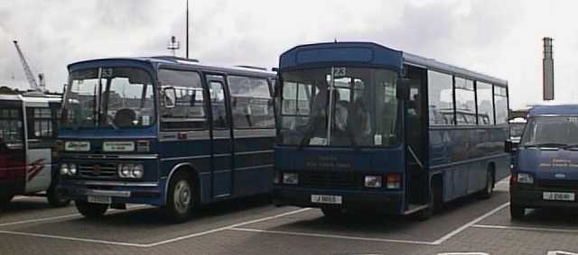
[[[340,63],[388,67],[399,72],[403,67],[403,58],[401,51],[371,42],[318,43],[285,51],[279,59],[279,68],[286,70]]]

